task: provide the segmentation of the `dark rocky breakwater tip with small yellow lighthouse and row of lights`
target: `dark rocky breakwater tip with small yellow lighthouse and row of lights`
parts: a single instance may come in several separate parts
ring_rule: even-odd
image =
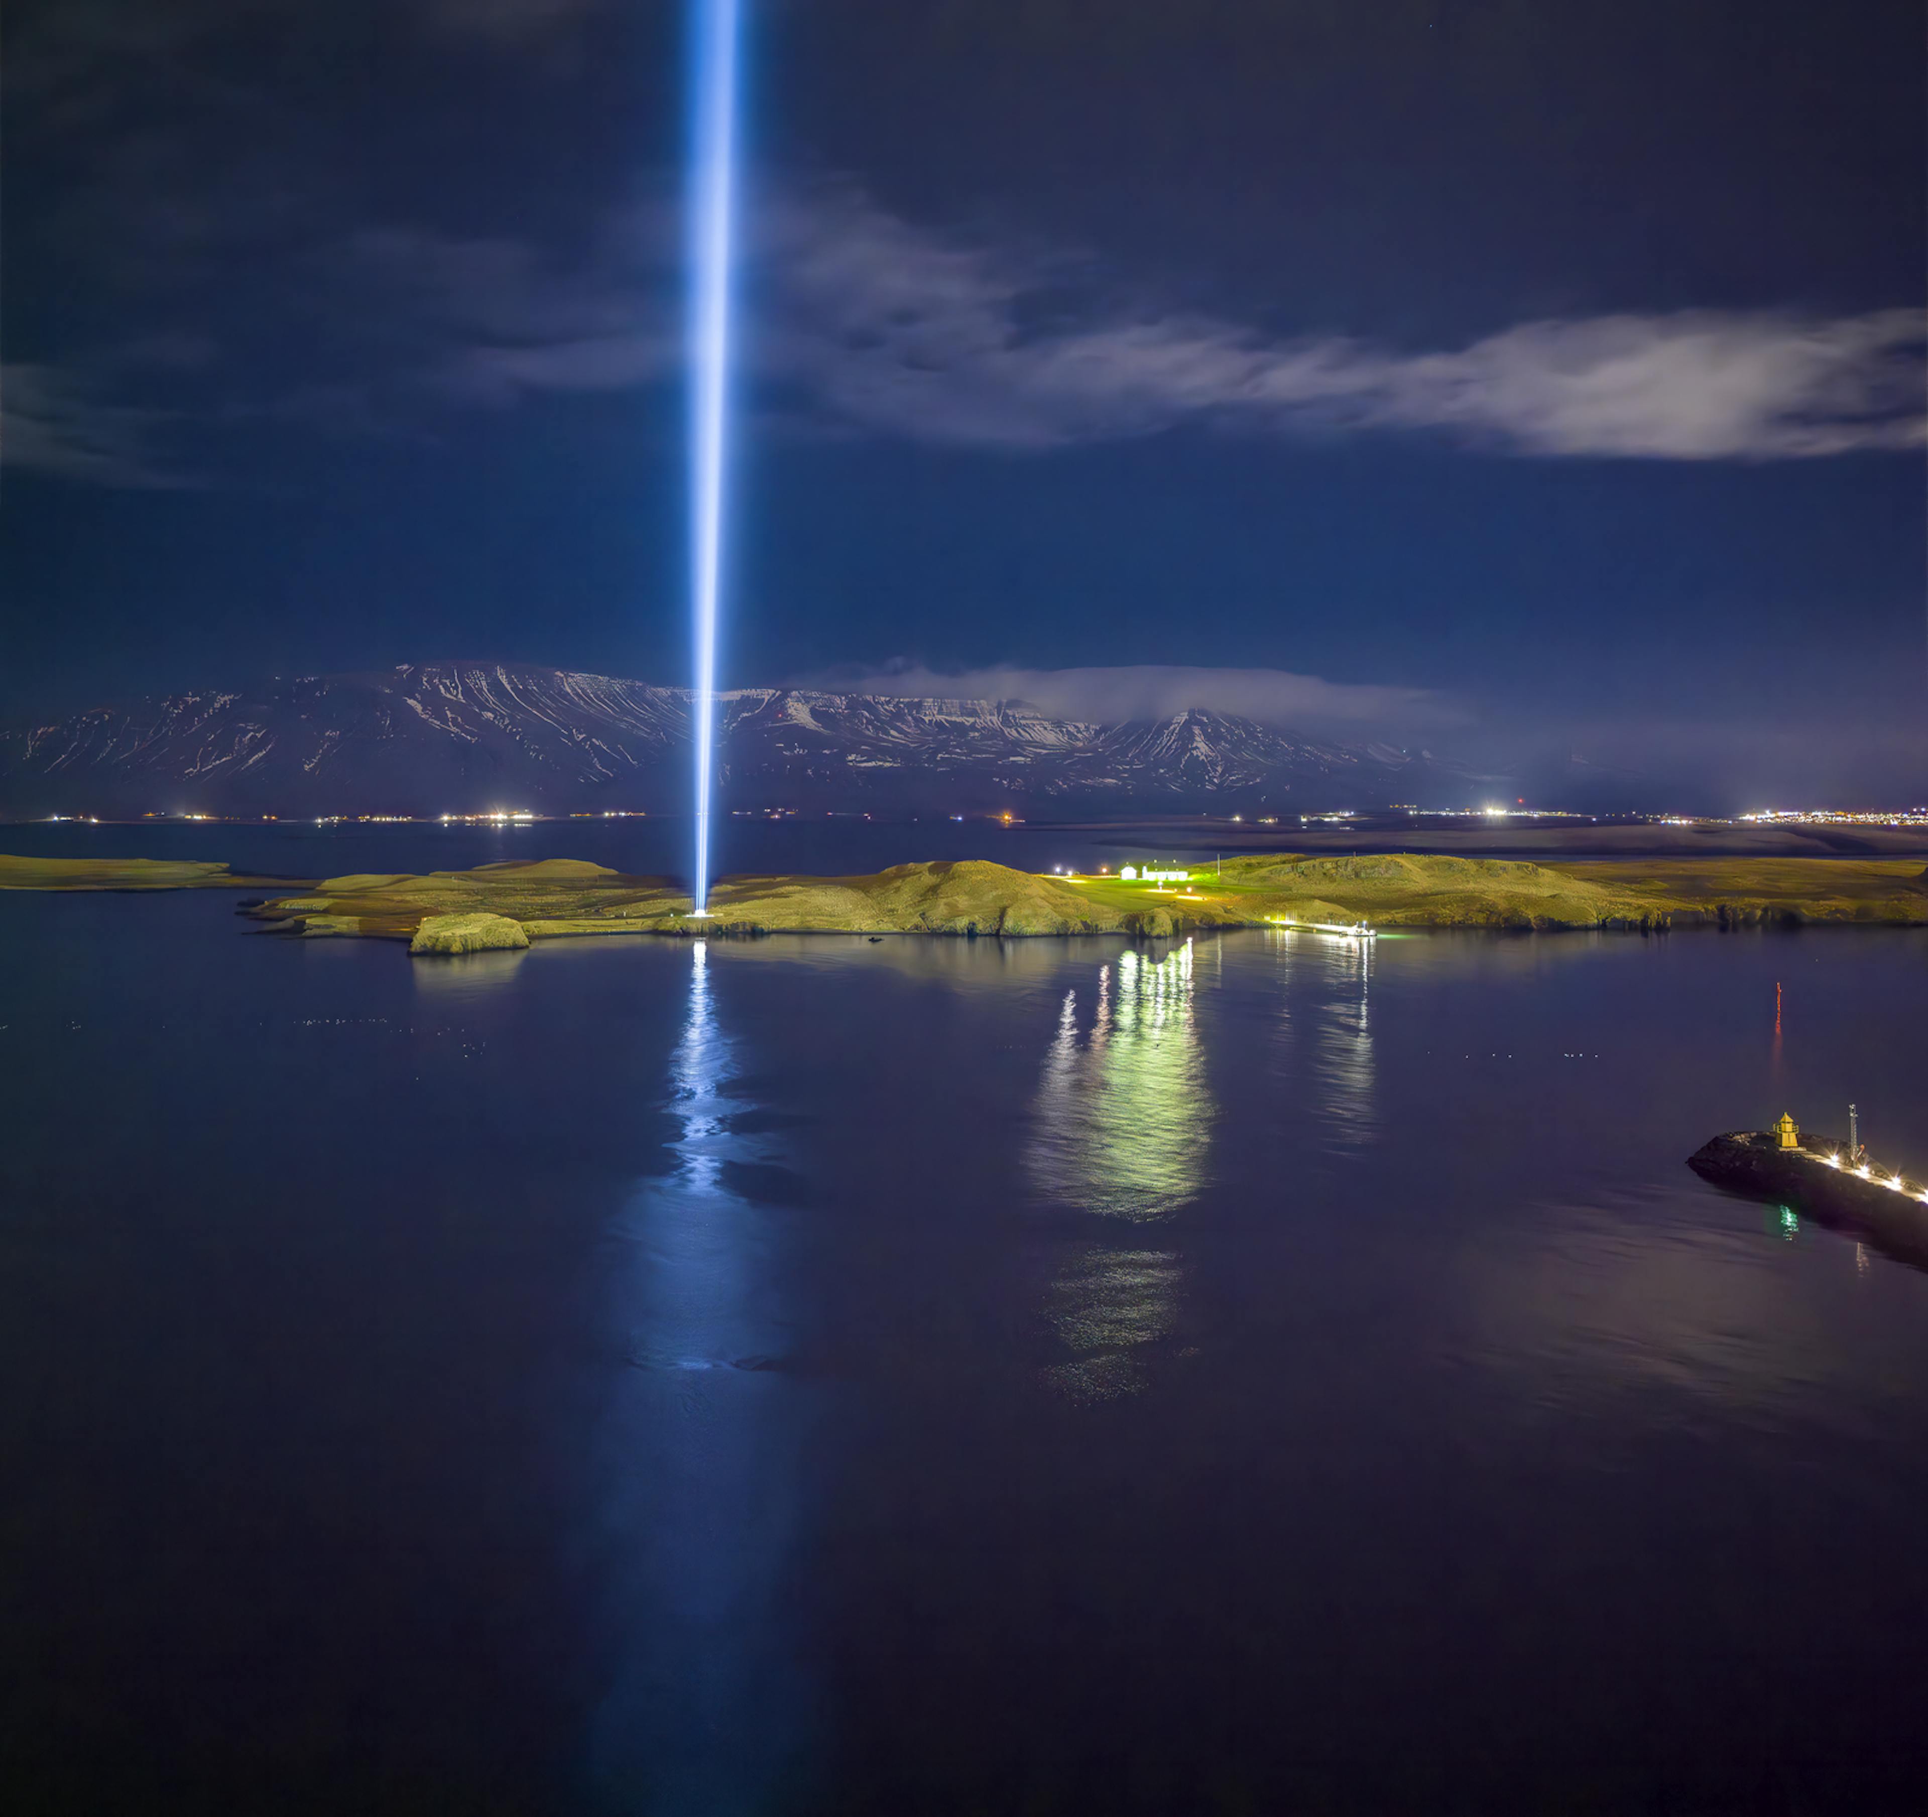
[[[1868,1161],[1847,1142],[1803,1134],[1793,1117],[1764,1130],[1716,1136],[1687,1157],[1714,1186],[1783,1206],[1893,1256],[1928,1267],[1928,1186]]]

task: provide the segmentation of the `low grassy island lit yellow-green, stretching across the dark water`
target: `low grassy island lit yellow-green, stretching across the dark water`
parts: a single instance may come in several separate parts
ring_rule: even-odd
[[[0,858],[0,889],[260,887],[224,864]],[[1675,928],[1928,926],[1928,872],[1895,858],[1650,858],[1529,864],[1388,853],[1242,856],[1182,876],[1039,876],[981,858],[875,876],[736,876],[690,912],[671,878],[576,858],[326,878],[241,905],[303,937],[401,939],[422,955],[569,936],[941,934],[1161,939],[1213,928],[1369,922],[1662,934]]]

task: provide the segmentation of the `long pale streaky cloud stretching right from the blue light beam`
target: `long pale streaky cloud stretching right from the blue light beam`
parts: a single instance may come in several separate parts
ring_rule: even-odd
[[[1217,422],[1668,461],[1924,444],[1920,309],[1540,320],[1407,353],[1103,305],[1064,320],[1055,264],[947,241],[848,189],[777,204],[765,241],[777,374],[920,442],[1064,447]]]

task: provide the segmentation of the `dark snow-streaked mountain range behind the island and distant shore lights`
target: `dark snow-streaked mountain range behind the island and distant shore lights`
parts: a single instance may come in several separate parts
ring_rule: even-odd
[[[1429,752],[1193,708],[1095,725],[1018,700],[719,696],[725,808],[1074,816],[1458,799]],[[0,731],[12,816],[679,812],[690,694],[530,664],[405,664],[102,706]]]

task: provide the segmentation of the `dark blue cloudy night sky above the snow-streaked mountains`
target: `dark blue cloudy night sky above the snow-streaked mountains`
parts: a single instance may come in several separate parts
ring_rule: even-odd
[[[750,14],[725,685],[1928,797],[1918,0]],[[686,681],[677,6],[10,0],[4,77],[0,710]]]

